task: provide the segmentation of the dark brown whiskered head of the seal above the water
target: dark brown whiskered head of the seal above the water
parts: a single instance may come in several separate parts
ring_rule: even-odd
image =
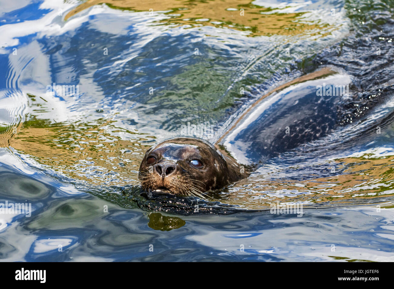
[[[147,150],[138,179],[147,191],[201,196],[247,177],[243,167],[201,139],[178,137]]]

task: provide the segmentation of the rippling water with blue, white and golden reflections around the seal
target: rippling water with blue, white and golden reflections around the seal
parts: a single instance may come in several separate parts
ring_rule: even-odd
[[[0,202],[32,206],[1,260],[393,260],[394,2],[0,2]],[[151,144],[327,66],[352,85],[325,136],[205,200],[141,195]]]

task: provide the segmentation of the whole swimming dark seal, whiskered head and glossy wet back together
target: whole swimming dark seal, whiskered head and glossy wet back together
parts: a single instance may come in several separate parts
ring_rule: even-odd
[[[272,156],[329,134],[341,98],[318,96],[316,87],[323,81],[328,85],[351,83],[348,75],[323,68],[260,97],[232,120],[214,145],[194,137],[154,145],[141,161],[141,187],[201,196],[248,177],[251,168]]]

